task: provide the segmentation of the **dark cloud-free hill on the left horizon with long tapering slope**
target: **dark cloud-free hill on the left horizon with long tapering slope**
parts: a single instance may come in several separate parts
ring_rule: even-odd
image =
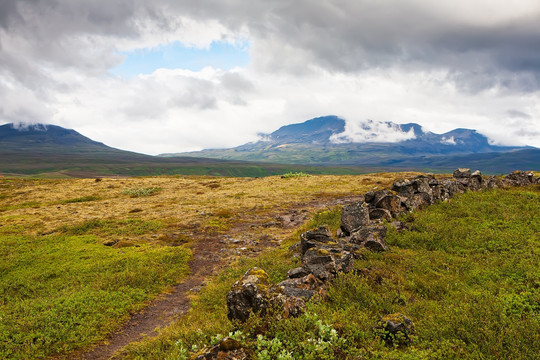
[[[97,177],[109,175],[267,176],[290,171],[310,173],[366,172],[358,167],[259,164],[219,159],[162,158],[109,147],[75,130],[55,125],[0,126],[0,175]]]

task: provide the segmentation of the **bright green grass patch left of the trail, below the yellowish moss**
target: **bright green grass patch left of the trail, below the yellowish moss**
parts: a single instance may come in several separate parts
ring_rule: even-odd
[[[189,256],[184,247],[114,249],[89,235],[3,236],[0,357],[45,358],[101,340],[185,277]]]

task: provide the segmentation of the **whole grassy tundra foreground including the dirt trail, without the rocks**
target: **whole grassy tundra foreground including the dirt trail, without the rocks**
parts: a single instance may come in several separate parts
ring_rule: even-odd
[[[297,312],[228,318],[242,274],[261,269],[259,287],[275,286],[306,265],[300,234],[326,226],[338,239],[343,206],[417,175],[2,178],[2,356],[202,359],[226,340],[230,359],[534,358],[534,184],[385,220],[386,251],[359,245]],[[407,341],[377,328],[393,314],[414,323]]]

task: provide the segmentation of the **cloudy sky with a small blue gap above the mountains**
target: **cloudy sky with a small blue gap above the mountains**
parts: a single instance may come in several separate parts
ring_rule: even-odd
[[[0,124],[160,154],[324,115],[540,147],[540,2],[0,1]]]

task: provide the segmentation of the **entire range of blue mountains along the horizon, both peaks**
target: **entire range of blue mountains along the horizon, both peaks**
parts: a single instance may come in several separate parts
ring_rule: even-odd
[[[414,123],[375,121],[355,126],[337,116],[324,116],[283,126],[261,134],[259,141],[231,149],[150,156],[115,149],[55,125],[6,124],[0,126],[0,174],[266,176],[288,171],[540,169],[540,149],[492,145],[475,130],[435,134]]]

